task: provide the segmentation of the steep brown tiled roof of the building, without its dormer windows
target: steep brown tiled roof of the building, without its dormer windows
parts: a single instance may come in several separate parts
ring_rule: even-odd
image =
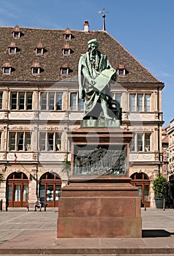
[[[19,30],[19,27],[15,27]],[[0,80],[36,80],[31,74],[31,67],[34,61],[42,67],[42,72],[37,76],[37,80],[62,80],[77,76],[78,61],[82,53],[88,50],[87,42],[97,38],[99,50],[107,54],[110,64],[115,69],[119,64],[126,68],[126,75],[118,76],[118,83],[160,83],[160,81],[145,69],[134,56],[132,56],[116,39],[107,31],[73,31],[69,28],[65,30],[50,29],[30,29],[20,28],[21,36],[13,38],[14,27],[0,27],[0,65],[9,60],[13,67],[10,76],[0,73]],[[64,39],[64,34],[72,34],[71,40]],[[8,47],[12,44],[18,48],[15,54],[9,54]],[[44,45],[44,54],[37,55],[35,48]],[[70,55],[62,53],[62,47],[68,43],[73,51]],[[62,77],[60,67],[68,63],[69,75]]]

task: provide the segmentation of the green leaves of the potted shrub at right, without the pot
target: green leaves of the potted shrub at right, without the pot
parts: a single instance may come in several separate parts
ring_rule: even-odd
[[[160,173],[153,181],[155,197],[164,197],[167,189],[167,181]]]

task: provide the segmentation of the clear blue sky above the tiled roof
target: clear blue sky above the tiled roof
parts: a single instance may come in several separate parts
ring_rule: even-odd
[[[0,26],[41,29],[106,30],[161,80],[164,126],[174,118],[173,0],[0,0]]]

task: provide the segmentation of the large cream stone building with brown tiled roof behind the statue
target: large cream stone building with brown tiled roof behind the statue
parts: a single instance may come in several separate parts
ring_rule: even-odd
[[[0,185],[3,208],[23,207],[39,195],[58,206],[70,159],[67,131],[80,127],[83,101],[77,69],[88,40],[116,69],[113,97],[121,103],[121,128],[132,131],[129,177],[139,187],[142,206],[154,207],[152,181],[162,168],[160,82],[107,31],[0,27]]]

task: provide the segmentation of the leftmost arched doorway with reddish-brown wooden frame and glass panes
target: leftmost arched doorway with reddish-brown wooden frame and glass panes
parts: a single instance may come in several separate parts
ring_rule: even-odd
[[[29,197],[29,178],[25,173],[11,173],[7,177],[7,207],[24,207]]]

